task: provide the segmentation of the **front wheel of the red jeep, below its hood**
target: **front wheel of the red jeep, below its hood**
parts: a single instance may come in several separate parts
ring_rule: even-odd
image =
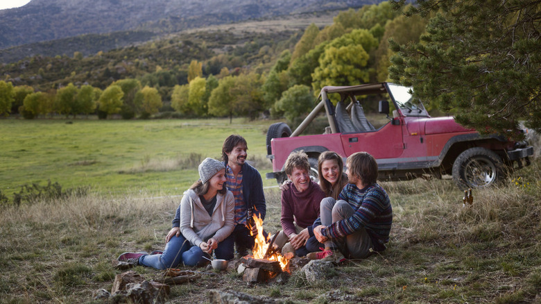
[[[461,189],[490,187],[504,180],[504,163],[485,148],[467,149],[454,161],[453,179]]]

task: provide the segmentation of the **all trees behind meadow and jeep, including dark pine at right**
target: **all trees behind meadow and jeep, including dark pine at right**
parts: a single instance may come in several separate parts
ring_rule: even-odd
[[[0,83],[0,114],[9,115],[17,107],[27,118],[47,111],[64,115],[96,111],[105,117],[120,113],[126,119],[149,117],[157,110],[182,117],[255,118],[266,112],[295,123],[313,107],[314,96],[325,85],[392,79],[413,85],[415,96],[429,110],[452,112],[461,124],[482,133],[506,133],[519,121],[540,130],[541,1],[418,4],[390,1],[346,10],[329,26],[311,24],[298,38],[252,40],[219,54],[205,42],[184,40],[186,49],[180,44],[157,48],[154,44],[163,42],[152,42],[155,53],[147,50],[146,58],[123,60],[103,71],[109,78],[119,76],[122,69],[135,75],[112,81],[103,92],[68,84],[39,94]],[[491,35],[482,35],[487,26]],[[175,51],[191,56],[189,65],[182,69],[155,65],[155,71],[137,75],[137,67],[148,65],[153,56],[164,58],[157,54],[165,56],[164,64],[180,60]],[[96,78],[87,74],[91,76],[87,79]],[[26,100],[25,92],[33,95]],[[66,105],[70,102],[71,107]],[[31,110],[35,104],[42,104],[41,110]]]

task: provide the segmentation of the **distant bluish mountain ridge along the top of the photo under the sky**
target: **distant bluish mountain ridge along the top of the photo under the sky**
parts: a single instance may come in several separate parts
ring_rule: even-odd
[[[175,33],[280,15],[358,8],[381,0],[32,0],[0,10],[0,49],[84,34]]]

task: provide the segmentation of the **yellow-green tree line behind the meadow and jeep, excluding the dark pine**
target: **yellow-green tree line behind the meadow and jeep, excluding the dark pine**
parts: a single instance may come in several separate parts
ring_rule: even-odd
[[[31,87],[16,86],[12,89],[11,105],[1,106],[0,113],[6,115],[20,109],[26,118],[51,113],[88,115],[96,112],[101,117],[119,113],[130,119],[150,117],[161,109],[174,110],[184,117],[246,116],[253,119],[267,112],[292,122],[310,110],[320,87],[386,81],[388,58],[392,55],[388,37],[404,43],[418,41],[426,23],[427,19],[422,17],[406,19],[388,2],[363,6],[339,12],[333,24],[325,28],[315,24],[308,26],[298,42],[291,47],[284,44],[266,71],[261,64],[258,67],[246,66],[243,62],[232,65],[232,57],[221,54],[209,60],[191,60],[184,83],[179,83],[171,71],[158,67],[157,71],[138,78],[114,81],[103,91],[71,83],[49,92],[33,92]],[[250,47],[256,49],[248,51]],[[244,54],[259,53],[264,57],[271,48],[258,47],[258,44],[247,43]],[[238,53],[239,49],[232,52]],[[74,58],[81,57],[78,52],[74,54]],[[4,83],[0,90],[7,90],[8,86]]]

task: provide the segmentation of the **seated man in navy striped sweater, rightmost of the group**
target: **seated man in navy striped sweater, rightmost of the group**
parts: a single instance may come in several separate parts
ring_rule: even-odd
[[[393,223],[393,208],[385,190],[377,184],[377,162],[366,152],[346,160],[347,184],[338,201],[321,201],[314,235],[325,244],[323,251],[309,253],[312,260],[343,262],[345,257],[363,259],[384,251]]]

